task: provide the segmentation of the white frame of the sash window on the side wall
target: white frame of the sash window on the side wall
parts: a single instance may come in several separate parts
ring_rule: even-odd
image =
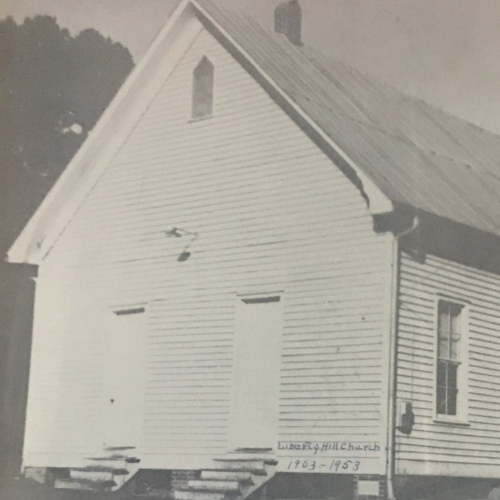
[[[437,372],[439,358],[439,304],[445,302],[457,305],[460,310],[460,366],[457,376],[457,414],[444,415],[437,412]],[[469,303],[454,296],[437,294],[434,308],[434,370],[433,370],[433,415],[436,423],[469,425]]]

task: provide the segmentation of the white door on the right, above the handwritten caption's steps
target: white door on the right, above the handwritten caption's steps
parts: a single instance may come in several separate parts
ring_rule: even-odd
[[[240,297],[230,447],[275,448],[283,330],[280,296]]]

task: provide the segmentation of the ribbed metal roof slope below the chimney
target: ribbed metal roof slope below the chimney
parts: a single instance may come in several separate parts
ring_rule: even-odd
[[[198,4],[396,203],[500,234],[500,137],[257,21]]]

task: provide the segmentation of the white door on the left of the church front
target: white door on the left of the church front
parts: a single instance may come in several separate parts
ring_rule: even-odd
[[[107,447],[138,447],[142,427],[145,337],[144,308],[112,313],[109,328]]]

